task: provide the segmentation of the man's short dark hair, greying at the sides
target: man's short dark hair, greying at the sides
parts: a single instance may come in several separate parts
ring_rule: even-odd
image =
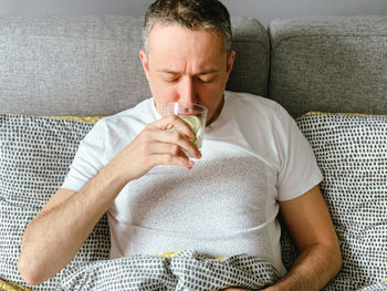
[[[143,42],[148,51],[148,37],[156,22],[178,23],[190,30],[205,29],[217,33],[227,53],[231,50],[230,13],[218,0],[157,0],[149,6],[144,20]]]

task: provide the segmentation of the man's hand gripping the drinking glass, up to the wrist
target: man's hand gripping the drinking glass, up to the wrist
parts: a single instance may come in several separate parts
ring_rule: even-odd
[[[171,128],[176,131],[170,131]],[[112,164],[115,164],[126,181],[142,177],[157,165],[191,168],[194,162],[181,149],[196,158],[200,158],[201,154],[189,138],[195,138],[189,125],[176,115],[168,115],[146,125]]]

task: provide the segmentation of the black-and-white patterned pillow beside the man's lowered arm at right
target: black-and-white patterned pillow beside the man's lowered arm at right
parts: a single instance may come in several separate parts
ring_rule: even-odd
[[[387,278],[387,117],[314,113],[297,124],[323,172],[344,259],[325,290],[380,283]]]

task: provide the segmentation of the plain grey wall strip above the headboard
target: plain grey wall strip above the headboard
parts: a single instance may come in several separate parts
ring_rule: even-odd
[[[0,14],[143,15],[153,0],[0,0]],[[222,0],[232,15],[274,18],[387,14],[387,0]]]

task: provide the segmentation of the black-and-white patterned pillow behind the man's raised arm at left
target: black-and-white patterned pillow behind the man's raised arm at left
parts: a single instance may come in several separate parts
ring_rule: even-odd
[[[0,279],[24,285],[18,272],[25,226],[62,185],[80,141],[92,123],[0,115]],[[70,269],[108,258],[103,217],[72,263],[33,290],[53,290]]]

